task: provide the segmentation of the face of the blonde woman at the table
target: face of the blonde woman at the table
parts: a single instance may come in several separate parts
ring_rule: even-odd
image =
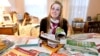
[[[50,10],[52,18],[58,18],[61,11],[61,6],[59,4],[53,4]]]

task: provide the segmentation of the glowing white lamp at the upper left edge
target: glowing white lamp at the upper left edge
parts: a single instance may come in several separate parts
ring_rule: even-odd
[[[0,23],[3,20],[3,12],[5,11],[5,7],[10,7],[10,3],[8,0],[2,0],[0,1]]]

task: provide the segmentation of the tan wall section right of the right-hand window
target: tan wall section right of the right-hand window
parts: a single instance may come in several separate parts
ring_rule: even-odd
[[[100,0],[90,0],[87,16],[94,17],[100,13]]]

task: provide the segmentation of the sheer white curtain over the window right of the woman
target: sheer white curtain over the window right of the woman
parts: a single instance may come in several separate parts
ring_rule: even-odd
[[[74,20],[74,18],[83,18],[86,20],[87,17],[87,9],[89,0],[69,0],[69,22],[70,24]]]

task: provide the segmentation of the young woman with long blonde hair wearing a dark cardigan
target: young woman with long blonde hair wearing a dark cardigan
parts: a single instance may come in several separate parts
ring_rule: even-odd
[[[51,5],[48,17],[43,18],[40,22],[40,35],[43,33],[55,34],[57,27],[61,27],[67,35],[68,22],[62,17],[62,10],[63,6],[58,1]]]

